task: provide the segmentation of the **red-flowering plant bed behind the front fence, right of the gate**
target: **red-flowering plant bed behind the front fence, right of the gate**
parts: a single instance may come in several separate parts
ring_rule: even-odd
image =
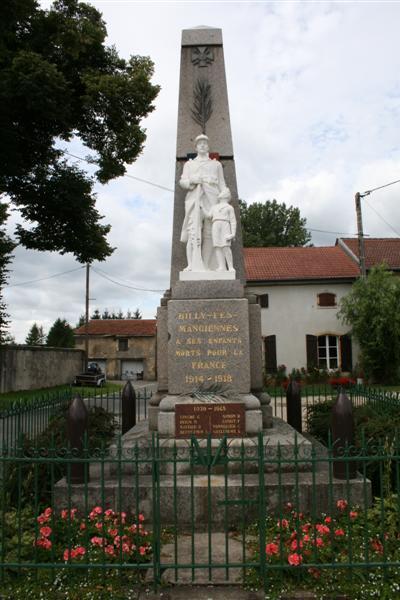
[[[398,497],[392,495],[384,502],[375,499],[373,506],[364,510],[339,499],[329,515],[299,513],[288,504],[283,518],[267,516],[268,598],[279,599],[285,592],[300,589],[312,590],[318,598],[397,598],[400,569],[382,569],[381,563],[398,565],[400,561],[399,508]],[[259,561],[259,524],[250,532],[250,550]],[[368,565],[368,569],[353,566],[355,563]],[[323,564],[336,568],[320,566]],[[262,588],[259,572],[249,569],[245,584]]]

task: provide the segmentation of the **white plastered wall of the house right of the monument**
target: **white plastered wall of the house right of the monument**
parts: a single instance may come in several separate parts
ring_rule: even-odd
[[[340,300],[351,284],[330,285],[265,285],[249,286],[250,293],[268,294],[268,308],[261,309],[263,337],[276,336],[278,365],[286,365],[287,372],[307,366],[306,335],[344,335],[349,328],[337,318]],[[336,295],[336,307],[320,307],[318,294]],[[358,360],[358,347],[352,340],[353,367]]]

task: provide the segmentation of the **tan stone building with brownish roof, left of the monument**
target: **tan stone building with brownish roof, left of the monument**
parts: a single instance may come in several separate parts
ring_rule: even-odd
[[[155,319],[92,319],[89,360],[109,379],[156,378]],[[75,347],[85,348],[85,325],[74,331]]]

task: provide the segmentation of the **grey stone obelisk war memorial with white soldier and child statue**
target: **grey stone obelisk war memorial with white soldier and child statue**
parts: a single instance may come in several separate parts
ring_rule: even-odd
[[[162,526],[201,530],[211,519],[218,530],[254,518],[261,503],[281,510],[294,496],[300,510],[312,502],[326,510],[328,488],[335,498],[350,488],[354,501],[361,498],[361,478],[351,486],[332,480],[327,463],[316,468],[311,442],[272,419],[261,344],[260,307],[246,290],[222,32],[187,29],[171,280],[157,311],[158,391],[148,420],[123,436],[123,462],[90,473],[91,501],[140,505]],[[76,504],[81,487],[74,486]],[[60,504],[65,490],[58,485]]]

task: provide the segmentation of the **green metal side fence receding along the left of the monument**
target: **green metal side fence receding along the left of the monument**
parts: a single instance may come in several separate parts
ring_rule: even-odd
[[[18,400],[7,409],[0,411],[0,444],[7,442],[14,445],[20,434],[34,439],[42,433],[51,419],[64,407],[68,406],[72,398],[81,394],[88,408],[98,406],[114,415],[117,426],[121,426],[122,389],[117,392],[103,391],[101,389],[91,392],[82,392],[78,388],[71,388],[62,393],[53,393],[33,398],[29,401]],[[147,405],[152,396],[152,391],[142,388],[136,392],[136,420],[147,419]]]

